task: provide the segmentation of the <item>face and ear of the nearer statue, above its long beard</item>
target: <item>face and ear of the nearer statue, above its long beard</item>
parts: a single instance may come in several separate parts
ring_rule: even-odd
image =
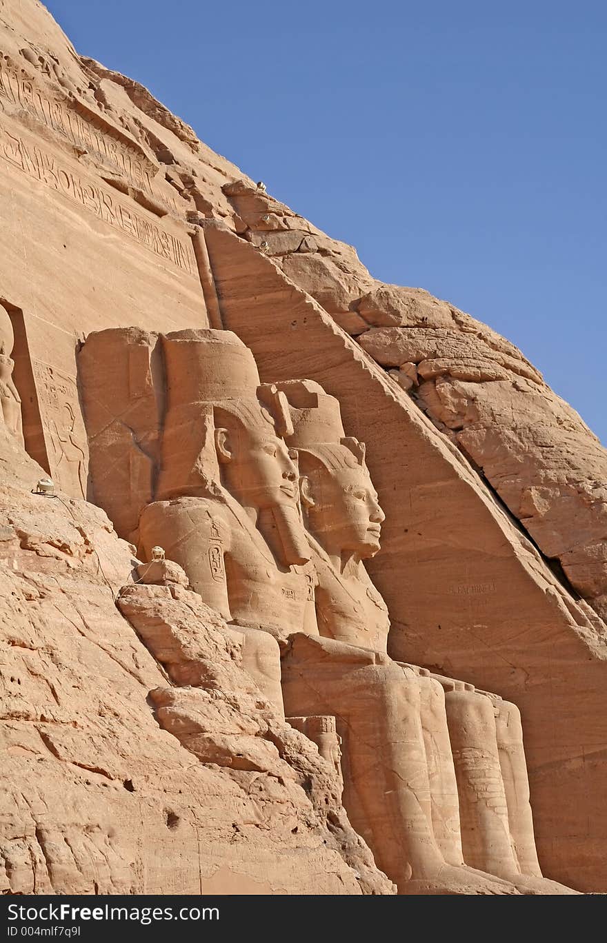
[[[297,506],[297,469],[269,423],[267,429],[217,429],[216,443],[228,488],[241,504],[259,509]]]

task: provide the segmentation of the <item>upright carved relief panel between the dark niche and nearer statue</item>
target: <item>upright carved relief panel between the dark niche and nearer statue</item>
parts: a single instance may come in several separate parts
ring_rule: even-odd
[[[34,358],[31,366],[51,477],[61,490],[86,498],[88,445],[76,377]]]

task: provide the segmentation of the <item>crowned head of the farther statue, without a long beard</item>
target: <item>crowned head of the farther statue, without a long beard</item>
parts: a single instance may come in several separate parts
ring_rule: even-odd
[[[280,384],[294,426],[302,503],[312,534],[330,554],[364,559],[379,551],[379,506],[364,461],[364,445],[346,437],[339,402],[312,381]]]

